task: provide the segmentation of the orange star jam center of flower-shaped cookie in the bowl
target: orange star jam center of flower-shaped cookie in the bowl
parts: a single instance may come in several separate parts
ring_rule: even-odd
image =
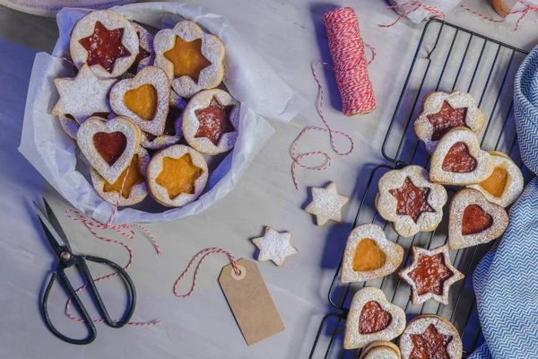
[[[164,54],[174,64],[174,77],[189,76],[198,83],[200,72],[211,65],[211,61],[202,54],[202,39],[185,41],[176,36],[174,47]]]

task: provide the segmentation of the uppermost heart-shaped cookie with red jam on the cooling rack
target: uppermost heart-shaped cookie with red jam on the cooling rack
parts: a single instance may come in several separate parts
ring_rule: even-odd
[[[465,127],[448,131],[431,156],[430,180],[445,185],[471,185],[493,172],[490,153],[482,151],[478,137]]]

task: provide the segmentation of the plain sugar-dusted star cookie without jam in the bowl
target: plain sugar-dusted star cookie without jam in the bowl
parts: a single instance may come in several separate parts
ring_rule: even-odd
[[[110,112],[107,95],[116,82],[116,79],[97,77],[90,66],[84,64],[75,77],[54,79],[60,99],[50,113],[71,115],[82,124],[94,113]]]

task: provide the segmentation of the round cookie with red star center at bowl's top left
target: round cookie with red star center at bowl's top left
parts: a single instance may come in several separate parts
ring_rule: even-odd
[[[124,74],[138,55],[139,40],[134,26],[123,15],[99,10],[74,24],[69,50],[74,65],[88,64],[100,77]]]

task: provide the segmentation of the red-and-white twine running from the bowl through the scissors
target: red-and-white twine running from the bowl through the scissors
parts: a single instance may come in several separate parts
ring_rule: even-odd
[[[123,182],[121,184],[121,188],[120,188],[119,193],[117,195],[116,205],[114,206],[114,209],[112,210],[112,215],[110,215],[110,218],[108,218],[107,224],[100,223],[99,221],[97,221],[97,220],[95,220],[93,218],[87,218],[86,216],[82,215],[82,213],[80,211],[77,211],[75,209],[68,209],[67,211],[65,211],[65,215],[68,218],[74,220],[75,222],[84,223],[86,228],[88,228],[88,230],[91,232],[91,234],[93,234],[94,237],[100,239],[101,241],[106,241],[108,243],[116,243],[116,244],[119,244],[119,245],[123,246],[129,252],[129,262],[127,263],[126,267],[124,267],[125,270],[127,270],[133,264],[133,258],[134,258],[133,250],[123,241],[116,241],[116,240],[112,240],[112,239],[110,239],[108,237],[100,236],[97,232],[95,232],[96,229],[112,230],[112,231],[115,231],[115,232],[121,234],[122,236],[126,237],[129,240],[134,240],[134,236],[135,236],[134,228],[142,230],[143,232],[146,233],[148,238],[152,241],[153,247],[157,251],[157,254],[159,256],[161,256],[161,248],[159,247],[159,244],[153,238],[152,233],[150,233],[142,225],[136,224],[136,223],[111,225],[112,220],[114,219],[114,217],[117,214],[117,206],[119,206],[119,199],[121,197],[121,193],[123,192],[124,186],[126,184],[126,179],[127,179],[127,176],[129,175],[129,170],[130,169],[131,169],[131,166],[129,165],[129,167],[127,167],[126,176],[124,177],[124,180],[123,180]],[[100,281],[103,281],[103,280],[108,279],[108,278],[112,278],[114,276],[117,276],[118,274],[119,274],[119,272],[114,272],[114,273],[109,274],[108,276],[101,276],[101,277],[99,277],[97,279],[94,279],[93,283],[97,284]],[[77,288],[74,291],[74,293],[79,293],[80,291],[82,291],[83,289],[85,289],[87,287],[88,287],[88,285],[82,285],[79,288]],[[65,305],[65,314],[67,315],[67,317],[69,317],[69,319],[71,319],[71,320],[76,320],[76,321],[79,321],[79,322],[85,322],[85,320],[83,320],[82,318],[74,317],[74,315],[71,314],[70,307],[71,307],[71,298],[67,301],[67,304]],[[102,321],[104,321],[104,320],[103,319],[93,320],[94,323],[100,323]],[[117,322],[119,320],[113,320],[113,321]],[[157,325],[157,324],[160,324],[160,323],[161,323],[161,320],[153,320],[153,321],[148,321],[148,322],[129,322],[128,325],[132,325],[132,326],[152,326],[152,325]]]

